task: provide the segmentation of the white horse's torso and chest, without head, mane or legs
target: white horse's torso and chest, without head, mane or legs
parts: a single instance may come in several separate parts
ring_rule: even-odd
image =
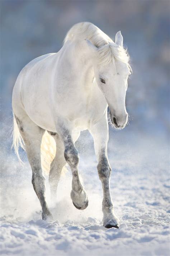
[[[83,54],[82,60],[82,51],[77,48],[75,42],[67,42],[58,53],[43,55],[23,68],[13,90],[16,116],[23,110],[39,127],[52,132],[57,132],[61,113],[72,129],[80,131],[100,118],[107,102],[94,79],[89,56]]]

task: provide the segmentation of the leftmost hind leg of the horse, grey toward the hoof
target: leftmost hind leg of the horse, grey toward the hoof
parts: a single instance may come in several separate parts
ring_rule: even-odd
[[[32,168],[32,184],[42,207],[42,219],[52,219],[45,199],[45,178],[41,167],[41,140],[44,130],[37,126],[28,116],[15,117],[20,134],[25,143],[25,150]]]

